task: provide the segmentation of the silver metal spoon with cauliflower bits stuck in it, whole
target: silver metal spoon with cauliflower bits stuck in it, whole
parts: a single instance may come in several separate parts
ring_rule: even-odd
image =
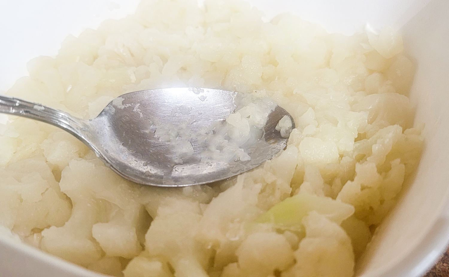
[[[189,186],[253,169],[284,149],[295,128],[268,98],[206,88],[136,91],[83,120],[0,96],[0,112],[58,126],[116,173],[154,186]]]

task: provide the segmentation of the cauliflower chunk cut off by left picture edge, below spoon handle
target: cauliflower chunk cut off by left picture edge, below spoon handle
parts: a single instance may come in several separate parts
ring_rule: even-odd
[[[62,226],[70,216],[69,199],[42,157],[0,168],[0,188],[4,192],[0,223],[21,236],[29,236],[34,229]]]

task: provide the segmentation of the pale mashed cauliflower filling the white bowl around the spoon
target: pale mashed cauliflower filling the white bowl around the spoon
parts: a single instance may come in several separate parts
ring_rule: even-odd
[[[9,117],[0,224],[115,276],[351,277],[423,147],[402,50],[391,29],[329,35],[287,14],[264,23],[240,0],[143,0],[30,61],[8,95],[88,119],[131,91],[249,92],[292,115],[288,146],[232,180],[166,189],[124,180],[62,130]]]

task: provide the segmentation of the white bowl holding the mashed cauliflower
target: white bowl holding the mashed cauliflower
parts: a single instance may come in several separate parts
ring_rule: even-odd
[[[418,277],[449,241],[449,1],[252,0],[266,19],[282,12],[319,22],[330,32],[401,30],[417,71],[410,100],[426,124],[425,149],[413,182],[378,228],[357,264],[360,277]],[[64,37],[106,18],[132,13],[138,0],[4,1],[0,10],[0,93],[26,74],[26,61],[56,54]],[[120,7],[120,8],[119,8]],[[100,274],[0,235],[1,277],[94,277]]]

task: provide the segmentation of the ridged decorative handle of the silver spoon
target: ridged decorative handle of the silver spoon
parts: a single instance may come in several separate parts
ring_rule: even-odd
[[[83,134],[87,131],[88,126],[83,119],[72,117],[68,113],[41,104],[0,95],[0,113],[39,120],[66,130],[75,137],[86,141]]]

